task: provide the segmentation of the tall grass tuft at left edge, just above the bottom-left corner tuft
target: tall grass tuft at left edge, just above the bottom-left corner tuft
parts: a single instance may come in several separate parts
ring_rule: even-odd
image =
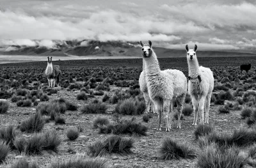
[[[10,146],[10,149],[15,149],[13,142],[15,141],[16,134],[13,125],[9,125],[7,128],[0,129],[0,140],[6,142]]]

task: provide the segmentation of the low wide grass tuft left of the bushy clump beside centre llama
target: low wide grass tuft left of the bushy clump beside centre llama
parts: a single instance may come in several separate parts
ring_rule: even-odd
[[[83,107],[81,107],[81,112],[83,114],[104,114],[106,113],[108,106],[105,103],[99,102],[90,102]]]

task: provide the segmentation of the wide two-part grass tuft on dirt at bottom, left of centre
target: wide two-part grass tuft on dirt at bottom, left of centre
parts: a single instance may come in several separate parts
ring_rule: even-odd
[[[106,154],[117,153],[120,155],[129,155],[134,146],[134,140],[119,135],[111,135],[104,142],[97,141],[88,148],[90,157],[100,157]]]

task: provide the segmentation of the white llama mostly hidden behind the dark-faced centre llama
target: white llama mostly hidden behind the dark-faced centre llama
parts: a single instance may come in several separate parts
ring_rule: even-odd
[[[144,97],[145,103],[146,103],[146,109],[145,109],[144,113],[147,114],[150,111],[150,106],[151,106],[152,112],[156,113],[154,103],[150,100],[149,95],[148,95],[148,87],[147,87],[147,82],[146,82],[146,72],[145,72],[145,61],[144,60],[142,60],[142,67],[143,67],[143,71],[140,73],[139,84],[140,84],[140,91],[143,93],[143,97]]]

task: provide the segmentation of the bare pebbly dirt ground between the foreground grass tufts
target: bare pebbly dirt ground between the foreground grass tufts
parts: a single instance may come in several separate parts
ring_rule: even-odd
[[[89,102],[89,100],[76,100],[76,95],[78,91],[66,91],[61,89],[58,94],[50,96],[51,99],[63,97],[70,102],[81,105]],[[100,98],[101,96],[97,96]],[[10,101],[10,100],[9,100]],[[31,114],[35,113],[35,107],[17,107],[15,103],[10,103],[10,109],[7,114],[0,114],[1,125],[14,125],[18,126],[19,122],[27,119]],[[115,105],[109,105],[108,112],[113,111]],[[232,111],[230,114],[219,114],[219,105],[211,106],[210,109],[210,119],[209,123],[214,126],[219,132],[230,133],[232,130],[244,125],[244,120],[241,119],[239,115],[240,111]],[[175,109],[176,110],[176,109]],[[57,160],[67,160],[76,155],[85,155],[88,150],[88,145],[97,141],[106,139],[108,135],[98,134],[98,130],[94,129],[92,126],[93,119],[97,116],[105,116],[109,121],[113,121],[111,114],[80,114],[78,111],[67,111],[62,114],[66,119],[65,125],[55,125],[54,122],[46,123],[43,132],[47,130],[55,129],[61,137],[61,145],[59,147],[58,153],[51,151],[43,151],[42,155],[36,155],[32,157],[26,157],[29,161],[35,160],[40,167],[47,167],[51,162],[56,162]],[[142,116],[135,116],[136,121],[141,121]],[[130,119],[132,116],[122,116],[122,119]],[[194,130],[195,126],[193,123],[193,114],[191,116],[185,116],[182,120],[181,129],[176,128],[177,121],[173,122],[171,132],[157,131],[157,115],[154,114],[153,118],[148,121],[148,123],[143,122],[144,125],[148,127],[147,136],[132,137],[135,140],[134,148],[132,152],[134,154],[128,156],[111,155],[106,157],[107,163],[110,166],[120,165],[120,167],[196,167],[196,158],[193,160],[160,160],[158,151],[161,146],[161,142],[164,137],[171,137],[180,142],[186,142],[189,146],[195,149],[196,152],[200,152],[198,145],[195,141]],[[67,139],[66,133],[67,129],[71,127],[80,126],[82,132],[76,141],[69,141]],[[163,125],[164,128],[164,125]],[[24,134],[17,130],[18,137],[24,136],[29,137],[31,134]],[[68,149],[71,148],[76,151],[76,154],[71,154]],[[13,151],[8,155],[6,164],[15,162],[19,157]],[[0,167],[6,167],[6,164],[0,165]]]

